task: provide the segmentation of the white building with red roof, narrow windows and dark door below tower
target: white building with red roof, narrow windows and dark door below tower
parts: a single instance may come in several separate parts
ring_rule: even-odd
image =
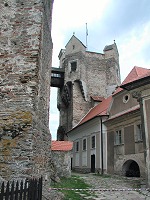
[[[111,96],[91,109],[81,122],[67,132],[73,141],[72,169],[79,172],[107,172],[107,129],[103,121]]]

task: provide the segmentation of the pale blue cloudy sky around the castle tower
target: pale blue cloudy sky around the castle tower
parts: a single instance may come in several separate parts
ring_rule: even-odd
[[[59,67],[58,54],[75,36],[89,51],[103,53],[117,44],[121,82],[134,66],[150,68],[150,0],[54,0],[52,14],[52,66]],[[51,87],[50,132],[56,140],[59,126],[57,89]]]

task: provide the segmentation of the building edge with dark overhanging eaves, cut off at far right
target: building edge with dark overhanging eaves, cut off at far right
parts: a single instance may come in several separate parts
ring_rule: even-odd
[[[132,82],[125,83],[122,88],[129,91],[133,98],[135,98],[140,105],[141,115],[141,128],[144,147],[144,161],[145,161],[145,173],[147,180],[147,187],[150,187],[150,167],[149,167],[149,137],[150,137],[150,125],[149,125],[149,107],[150,107],[150,70],[143,74],[139,79],[135,79]]]

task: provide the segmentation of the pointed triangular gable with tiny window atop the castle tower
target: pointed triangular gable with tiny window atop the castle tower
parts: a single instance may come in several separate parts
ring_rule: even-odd
[[[86,46],[74,35],[71,37],[65,48],[66,55],[76,53],[79,51],[86,51]]]

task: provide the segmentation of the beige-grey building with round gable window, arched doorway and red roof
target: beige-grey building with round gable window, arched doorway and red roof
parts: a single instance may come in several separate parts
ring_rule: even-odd
[[[134,67],[122,85],[140,79],[149,69]],[[112,95],[107,126],[107,170],[126,176],[145,176],[144,134],[139,102],[126,90]]]

